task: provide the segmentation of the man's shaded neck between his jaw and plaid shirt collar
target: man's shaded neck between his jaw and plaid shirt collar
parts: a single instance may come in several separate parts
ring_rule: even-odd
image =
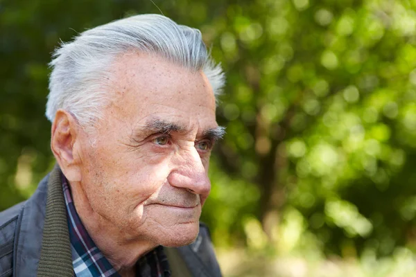
[[[121,276],[135,276],[137,260],[157,245],[128,238],[121,229],[92,209],[78,182],[70,186],[76,212],[98,249]]]

